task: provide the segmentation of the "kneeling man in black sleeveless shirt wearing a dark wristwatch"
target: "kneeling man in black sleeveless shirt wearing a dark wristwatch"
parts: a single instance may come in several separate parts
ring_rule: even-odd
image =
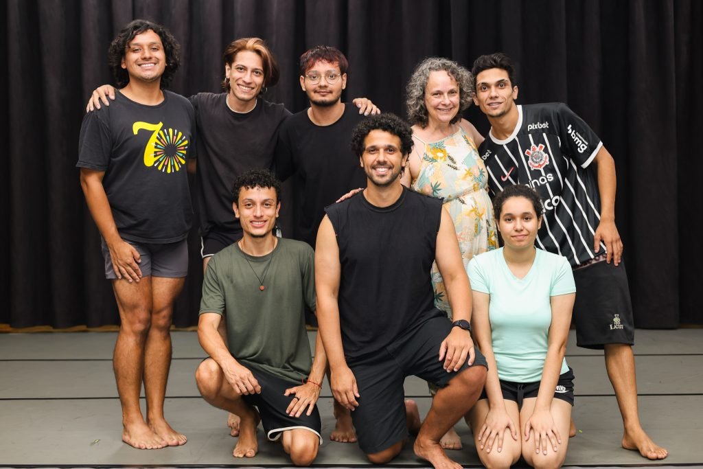
[[[368,187],[325,209],[316,246],[318,321],[333,394],[353,411],[369,461],[391,461],[410,430],[418,432],[420,458],[435,468],[460,467],[439,439],[477,400],[486,361],[471,339],[471,290],[451,217],[440,199],[400,184],[411,136],[392,114],[354,129],[352,148]],[[435,259],[454,323],[434,307]],[[441,387],[421,426],[416,404],[404,402],[408,375]]]

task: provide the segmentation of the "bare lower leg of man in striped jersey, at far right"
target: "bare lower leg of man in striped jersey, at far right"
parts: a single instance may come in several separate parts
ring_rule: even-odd
[[[622,447],[639,451],[648,459],[664,459],[669,452],[652,442],[640,425],[637,409],[637,380],[635,375],[635,356],[632,347],[626,344],[605,345],[605,368],[608,378],[615,390],[615,397],[620,408],[624,433]]]

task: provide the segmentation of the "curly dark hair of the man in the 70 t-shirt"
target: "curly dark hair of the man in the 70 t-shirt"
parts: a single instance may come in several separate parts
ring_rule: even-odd
[[[181,46],[179,45],[173,34],[162,25],[157,25],[148,20],[134,20],[122,28],[115,39],[112,39],[108,48],[108,63],[112,76],[115,77],[117,88],[124,88],[129,83],[129,73],[122,68],[122,59],[127,51],[127,46],[138,34],[143,32],[153,31],[161,38],[161,44],[164,46],[164,54],[166,56],[166,68],[161,75],[160,87],[168,88],[171,80],[176,74],[179,65],[181,65]]]

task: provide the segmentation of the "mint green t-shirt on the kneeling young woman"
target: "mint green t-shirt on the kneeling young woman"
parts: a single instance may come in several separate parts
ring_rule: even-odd
[[[469,262],[471,288],[491,295],[489,319],[498,378],[515,383],[541,380],[547,357],[550,297],[576,291],[566,257],[536,249],[524,278],[512,274],[503,248],[484,252]],[[568,371],[562,361],[560,373]]]

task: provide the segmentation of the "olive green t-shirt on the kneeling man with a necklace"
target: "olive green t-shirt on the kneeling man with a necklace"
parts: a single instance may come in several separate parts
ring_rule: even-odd
[[[229,351],[241,364],[299,383],[312,366],[304,311],[316,309],[314,264],[299,241],[279,238],[262,257],[234,243],[207,264],[200,314],[226,317]]]

